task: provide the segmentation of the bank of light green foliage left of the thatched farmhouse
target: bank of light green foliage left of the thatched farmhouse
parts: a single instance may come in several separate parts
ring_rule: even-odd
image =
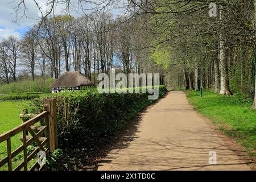
[[[42,79],[35,81],[18,81],[10,84],[0,85],[0,94],[7,93],[51,93],[49,85],[53,82],[53,78],[48,78],[44,84]]]

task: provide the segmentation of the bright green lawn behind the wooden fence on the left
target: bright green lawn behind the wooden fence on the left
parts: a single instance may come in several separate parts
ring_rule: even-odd
[[[5,131],[9,131],[14,127],[20,125],[22,120],[19,118],[20,109],[23,107],[25,101],[4,101],[0,102],[0,134]],[[22,142],[19,140],[21,133],[15,135],[11,138],[11,149],[14,151],[17,147],[22,145]],[[6,142],[0,143],[0,160],[7,155],[6,153]],[[16,156],[13,159],[14,166],[19,163],[20,158],[22,158],[22,153]],[[0,170],[6,169],[6,166],[0,168]]]

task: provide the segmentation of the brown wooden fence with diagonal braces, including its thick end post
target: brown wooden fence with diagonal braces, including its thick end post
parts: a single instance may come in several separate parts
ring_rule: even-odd
[[[0,135],[0,143],[6,141],[7,148],[7,156],[0,160],[0,168],[5,164],[8,164],[9,171],[19,171],[20,169],[24,169],[24,171],[28,170],[28,162],[34,159],[37,156],[39,151],[52,152],[57,146],[57,107],[56,107],[56,99],[46,99],[44,101],[44,111],[36,117],[24,122],[22,125],[15,127],[14,129],[7,131]],[[40,130],[35,131],[35,123],[44,123],[43,126],[40,126]],[[11,150],[11,137],[22,133],[22,146],[16,148],[13,152]],[[27,136],[27,133],[31,134],[31,137]],[[34,151],[30,152],[28,155],[27,147],[35,142],[37,147]],[[20,154],[23,151],[23,161],[18,164],[15,168],[12,165],[12,159]],[[42,170],[45,165],[40,166],[36,161],[29,170]]]

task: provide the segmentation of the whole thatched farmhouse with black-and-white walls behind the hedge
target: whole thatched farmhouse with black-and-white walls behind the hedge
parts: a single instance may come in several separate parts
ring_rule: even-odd
[[[61,77],[57,78],[50,85],[52,93],[85,90],[92,88],[93,83],[80,72],[66,72]]]

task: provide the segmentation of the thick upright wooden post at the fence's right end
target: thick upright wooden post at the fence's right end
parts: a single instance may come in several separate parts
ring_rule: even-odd
[[[48,133],[46,135],[49,137],[49,150],[53,152],[58,147],[56,98],[47,98],[44,100],[44,110],[49,111],[49,115],[46,118],[46,125],[48,125]]]

